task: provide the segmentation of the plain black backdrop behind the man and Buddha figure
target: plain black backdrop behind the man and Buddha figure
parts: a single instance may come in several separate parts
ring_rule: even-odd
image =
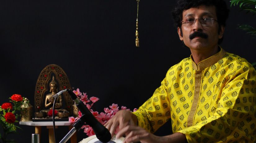
[[[0,104],[21,94],[34,106],[40,72],[57,64],[72,87],[100,99],[95,104],[98,112],[112,103],[138,108],[160,86],[167,70],[190,55],[173,26],[175,2],[140,2],[140,47],[135,47],[136,0],[1,0]],[[237,25],[256,27],[256,16],[240,12],[237,6],[230,10],[221,46],[252,63],[255,39]],[[34,127],[19,126],[16,141],[31,142]],[[56,131],[60,141],[68,128]],[[46,127],[42,133],[41,142],[48,142]],[[170,123],[157,132],[170,133]],[[85,137],[83,131],[78,133],[78,141]]]

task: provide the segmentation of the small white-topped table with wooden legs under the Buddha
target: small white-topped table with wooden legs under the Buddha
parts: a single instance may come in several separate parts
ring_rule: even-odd
[[[71,124],[72,123],[70,123],[69,121],[55,121],[56,128],[58,128],[58,126],[69,126],[69,129],[71,130],[73,128]],[[49,133],[49,143],[55,143],[52,121],[51,122],[20,121],[20,125],[35,126],[35,133],[38,133],[40,138],[41,138],[41,127],[46,126]],[[76,133],[74,133],[74,135],[70,138],[70,140],[71,140],[71,143],[77,143]]]

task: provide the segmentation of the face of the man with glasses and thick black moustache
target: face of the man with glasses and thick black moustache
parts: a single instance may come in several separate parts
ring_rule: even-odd
[[[217,19],[215,6],[204,6],[201,5],[198,8],[190,8],[184,10],[182,13],[182,21],[187,21],[188,19],[204,19],[213,18]],[[180,40],[183,40],[185,45],[191,50],[207,50],[218,47],[218,39],[221,39],[224,32],[224,27],[221,27],[218,33],[218,22],[213,20],[212,25],[203,26],[199,19],[195,20],[195,24],[189,26],[188,24],[182,24],[181,29],[178,27],[178,34]],[[183,22],[182,22],[183,23]],[[182,30],[182,31],[181,31]],[[206,37],[202,36],[192,36],[195,32],[200,32],[206,34]]]

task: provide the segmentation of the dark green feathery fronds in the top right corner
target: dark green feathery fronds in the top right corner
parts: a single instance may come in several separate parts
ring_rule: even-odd
[[[231,6],[237,6],[241,8],[241,10],[246,10],[247,13],[251,12],[256,14],[256,0],[231,0]],[[247,24],[238,25],[239,29],[247,31],[247,34],[252,36],[256,36],[256,29]]]

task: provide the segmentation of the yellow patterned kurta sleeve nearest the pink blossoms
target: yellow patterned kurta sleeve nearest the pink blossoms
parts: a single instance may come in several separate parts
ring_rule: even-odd
[[[166,78],[161,82],[152,97],[141,107],[133,112],[137,116],[138,125],[147,131],[154,133],[160,126],[170,119],[170,102],[166,89]]]

